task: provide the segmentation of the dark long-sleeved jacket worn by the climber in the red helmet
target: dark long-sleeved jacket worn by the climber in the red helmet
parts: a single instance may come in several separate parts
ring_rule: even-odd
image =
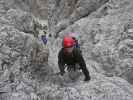
[[[82,56],[81,51],[78,48],[74,48],[73,52],[70,55],[67,55],[63,48],[59,51],[58,65],[59,65],[60,73],[62,75],[65,73],[65,71],[64,71],[64,69],[65,69],[64,65],[65,64],[67,64],[68,66],[79,64],[80,69],[82,69],[82,72],[84,73],[85,77],[90,78],[89,71],[86,68],[84,58]]]

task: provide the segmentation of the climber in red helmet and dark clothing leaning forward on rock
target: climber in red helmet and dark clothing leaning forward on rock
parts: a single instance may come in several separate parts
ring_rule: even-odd
[[[63,76],[65,73],[65,65],[67,65],[67,71],[76,70],[76,65],[78,64],[81,69],[85,79],[84,81],[90,80],[89,71],[86,67],[84,58],[79,50],[75,47],[75,40],[70,36],[65,36],[63,39],[63,47],[58,53],[58,65],[60,69],[60,74]]]

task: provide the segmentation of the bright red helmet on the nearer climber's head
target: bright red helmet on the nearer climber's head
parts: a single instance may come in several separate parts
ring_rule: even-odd
[[[75,45],[75,41],[73,40],[72,37],[70,36],[65,36],[63,39],[63,47],[64,48],[69,48],[73,47]]]

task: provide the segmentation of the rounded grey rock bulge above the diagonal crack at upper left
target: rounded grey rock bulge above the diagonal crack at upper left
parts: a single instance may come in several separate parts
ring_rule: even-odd
[[[34,32],[33,16],[22,10],[10,9],[7,12],[6,18],[13,24],[18,30],[32,33]]]

